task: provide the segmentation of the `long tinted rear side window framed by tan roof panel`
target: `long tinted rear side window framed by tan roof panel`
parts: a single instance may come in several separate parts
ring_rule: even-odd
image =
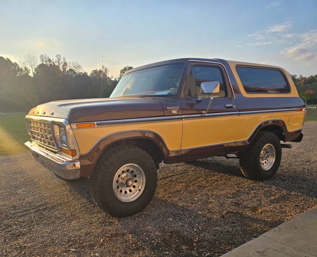
[[[290,92],[285,77],[277,69],[237,66],[236,71],[245,92],[249,94],[286,94]]]

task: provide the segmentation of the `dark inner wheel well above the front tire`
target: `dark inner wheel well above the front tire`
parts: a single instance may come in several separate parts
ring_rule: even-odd
[[[104,151],[108,151],[120,145],[134,145],[143,149],[152,157],[153,161],[155,162],[156,168],[159,168],[159,163],[162,162],[164,159],[159,146],[154,141],[148,138],[133,138],[113,142],[112,144],[107,146]]]

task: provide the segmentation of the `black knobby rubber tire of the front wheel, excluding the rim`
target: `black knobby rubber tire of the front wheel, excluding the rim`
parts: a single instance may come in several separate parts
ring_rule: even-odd
[[[113,178],[118,169],[127,163],[139,165],[146,176],[145,188],[131,202],[119,200],[113,192]],[[132,145],[113,148],[100,155],[89,179],[89,189],[94,203],[112,216],[125,217],[136,214],[152,200],[157,186],[157,169],[152,157],[143,149]]]

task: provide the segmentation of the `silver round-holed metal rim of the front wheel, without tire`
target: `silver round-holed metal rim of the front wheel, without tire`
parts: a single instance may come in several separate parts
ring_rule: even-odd
[[[132,202],[137,199],[145,187],[145,173],[135,164],[123,165],[113,178],[113,192],[123,202]]]

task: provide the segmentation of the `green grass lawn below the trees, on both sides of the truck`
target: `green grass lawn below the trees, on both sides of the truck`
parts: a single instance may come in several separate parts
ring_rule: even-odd
[[[0,155],[13,155],[24,152],[23,144],[28,141],[25,112],[9,112],[0,118]],[[317,109],[307,109],[306,122],[317,121]]]

